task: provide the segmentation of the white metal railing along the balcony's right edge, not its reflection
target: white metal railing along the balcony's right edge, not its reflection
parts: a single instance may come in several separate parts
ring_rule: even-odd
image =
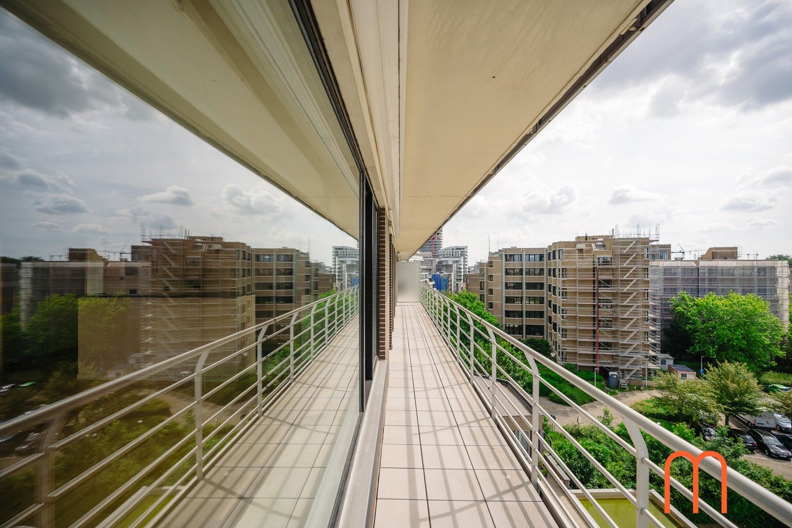
[[[622,402],[613,397],[608,396],[606,393],[597,389],[596,387],[585,382],[583,379],[578,378],[575,374],[569,372],[562,366],[555,363],[554,360],[547,358],[539,352],[533,350],[520,341],[509,336],[507,333],[501,331],[494,325],[490,325],[482,318],[471,313],[469,310],[459,306],[456,302],[451,301],[445,295],[427,287],[425,284],[421,285],[421,304],[425,307],[429,317],[431,317],[436,328],[444,337],[451,351],[455,352],[457,361],[466,370],[466,374],[470,380],[471,385],[482,399],[486,408],[488,408],[493,420],[496,421],[504,433],[508,443],[512,446],[520,458],[520,462],[524,468],[531,475],[531,484],[537,488],[543,500],[546,500],[554,506],[555,510],[565,517],[565,526],[579,526],[579,522],[571,514],[566,507],[567,504],[572,506],[590,526],[597,526],[596,522],[592,519],[588,511],[582,506],[581,502],[577,500],[575,494],[565,484],[562,475],[573,482],[579,493],[588,499],[592,507],[602,515],[603,519],[609,526],[619,528],[610,515],[596,500],[596,495],[587,490],[577,476],[569,469],[569,467],[562,461],[562,458],[555,453],[550,446],[550,443],[541,434],[543,424],[545,421],[554,426],[555,431],[564,435],[565,439],[569,440],[580,452],[588,462],[602,473],[613,487],[621,493],[622,496],[629,500],[635,507],[636,526],[638,528],[645,528],[645,526],[663,526],[657,517],[649,511],[649,475],[655,473],[659,477],[664,478],[664,468],[649,459],[649,451],[645,445],[645,440],[641,434],[644,431],[646,434],[652,436],[654,439],[659,440],[664,446],[667,446],[673,451],[687,451],[694,457],[701,454],[701,450],[691,443],[681,439],[679,436],[674,435],[668,429],[665,429],[659,424],[654,423],[634,409],[624,405]],[[519,357],[516,351],[520,351],[524,357]],[[479,360],[479,357],[484,359],[484,362]],[[508,372],[498,364],[497,356],[505,355],[508,359],[517,363],[520,367],[531,373],[531,393],[527,393]],[[488,365],[485,363],[489,363]],[[580,405],[566,397],[560,390],[551,386],[539,374],[538,365],[553,371],[555,374],[561,376],[565,381],[573,386],[584,391],[596,401],[607,406],[613,412],[623,416],[626,430],[630,435],[632,444],[626,442],[610,427],[602,424],[595,416],[586,411]],[[501,389],[499,381],[508,383],[509,388],[514,391],[510,393],[507,390]],[[588,453],[568,431],[562,427],[561,424],[555,420],[554,416],[547,412],[545,408],[539,403],[539,387],[540,384],[546,386],[551,392],[562,398],[567,404],[572,406],[581,415],[588,418],[593,425],[603,431],[609,438],[613,439],[615,443],[623,447],[627,452],[632,454],[635,458],[636,464],[636,485],[634,490],[627,489],[619,480],[604,468]],[[521,399],[528,403],[524,408],[529,408],[527,414],[520,410],[520,401],[516,401],[515,395],[519,395]],[[508,410],[508,413],[503,412]],[[518,420],[519,419],[519,420]],[[530,436],[530,444],[524,446],[523,443],[512,435],[509,431],[514,429],[524,431],[527,427]],[[534,434],[534,431],[539,431],[539,434]],[[543,467],[540,468],[539,465]],[[703,469],[711,477],[721,481],[721,466],[714,460],[714,458],[704,458],[699,467]],[[546,474],[544,474],[546,473]],[[553,479],[551,483],[548,479]],[[555,485],[553,485],[555,484]],[[676,479],[671,478],[670,484],[682,494],[687,500],[693,500],[693,492],[687,489],[683,484]],[[792,526],[792,503],[783,500],[779,496],[769,492],[767,489],[756,484],[756,482],[748,479],[735,469],[727,469],[727,484],[729,490],[739,493],[745,499],[756,504],[763,511],[778,519],[786,526]],[[558,490],[565,496],[564,501],[558,494]],[[721,514],[718,509],[710,506],[703,500],[699,501],[699,509],[709,515],[715,522],[721,526],[729,526],[737,528]]]

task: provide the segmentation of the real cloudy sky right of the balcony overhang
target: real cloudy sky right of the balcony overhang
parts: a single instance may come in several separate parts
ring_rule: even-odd
[[[660,225],[792,253],[792,2],[676,0],[444,229],[491,249]],[[690,256],[690,253],[688,253]]]

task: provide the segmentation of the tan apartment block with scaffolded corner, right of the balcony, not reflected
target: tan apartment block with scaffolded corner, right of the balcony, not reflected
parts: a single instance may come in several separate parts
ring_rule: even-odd
[[[546,339],[559,363],[638,377],[654,365],[649,263],[670,252],[657,237],[585,235],[490,253],[465,284],[506,332]]]

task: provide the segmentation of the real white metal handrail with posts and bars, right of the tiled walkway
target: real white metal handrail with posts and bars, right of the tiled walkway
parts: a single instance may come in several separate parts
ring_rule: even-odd
[[[558,374],[566,382],[569,382],[571,385],[583,390],[584,393],[588,394],[588,396],[594,398],[596,401],[599,401],[604,405],[607,405],[608,408],[611,408],[611,410],[618,413],[620,416],[623,416],[624,424],[630,435],[630,440],[633,443],[633,446],[630,446],[630,449],[627,449],[626,447],[625,449],[636,458],[636,490],[634,493],[629,492],[627,494],[624,493],[626,491],[624,489],[619,489],[617,487],[617,490],[622,493],[622,495],[625,495],[626,498],[630,500],[630,502],[636,507],[636,526],[643,528],[645,526],[649,526],[649,522],[656,526],[661,526],[658,519],[656,519],[654,515],[649,512],[649,473],[655,473],[661,477],[664,477],[664,469],[649,459],[648,450],[646,449],[645,441],[641,435],[641,431],[653,436],[654,439],[659,440],[672,451],[684,450],[693,454],[693,456],[698,456],[702,453],[702,450],[693,444],[688,443],[686,440],[681,439],[679,436],[674,435],[671,431],[668,431],[668,429],[656,424],[652,420],[649,420],[639,412],[628,407],[627,405],[624,405],[622,402],[616,400],[614,397],[609,396],[607,393],[604,393],[602,390],[597,389],[595,386],[585,382],[583,379],[569,372],[569,370],[566,370],[554,360],[539,354],[539,352],[528,347],[526,344],[520,343],[520,341],[516,340],[514,337],[509,336],[506,332],[498,329],[497,326],[491,325],[481,317],[478,317],[476,314],[470,312],[470,310],[466,310],[466,308],[463,306],[460,306],[458,303],[452,301],[447,296],[440,294],[440,292],[434,290],[432,287],[429,287],[426,284],[421,284],[421,304],[425,307],[429,317],[432,319],[434,325],[436,325],[436,328],[440,331],[440,334],[444,337],[444,340],[446,340],[449,348],[451,348],[452,351],[455,351],[458,362],[463,365],[463,367],[467,367],[465,370],[466,374],[470,378],[471,385],[474,386],[476,393],[478,393],[478,396],[489,409],[493,419],[496,420],[497,423],[501,424],[505,431],[508,431],[508,424],[506,422],[506,418],[498,411],[497,408],[497,404],[500,403],[501,407],[503,407],[503,405],[502,402],[497,400],[495,383],[497,378],[504,378],[503,375],[499,376],[499,373],[506,373],[505,370],[497,365],[497,353],[505,353],[510,359],[512,359],[512,361],[531,372],[531,394],[528,394],[522,387],[517,385],[516,382],[508,377],[510,380],[509,385],[512,387],[512,389],[515,389],[518,393],[520,393],[520,396],[523,397],[525,401],[528,401],[531,404],[531,416],[523,416],[519,411],[519,407],[512,405],[512,407],[514,407],[517,412],[520,412],[520,418],[524,420],[525,424],[528,424],[528,430],[531,431],[531,450],[525,449],[522,444],[516,441],[516,439],[511,438],[511,434],[506,435],[510,445],[512,445],[512,447],[516,448],[517,450],[522,451],[524,461],[526,461],[527,465],[529,466],[526,469],[528,469],[529,473],[531,473],[531,484],[543,491],[545,496],[555,496],[554,491],[550,488],[547,488],[546,479],[538,470],[539,462],[543,462],[545,467],[549,467],[548,455],[550,455],[550,458],[554,459],[556,465],[560,465],[565,469],[565,473],[567,473],[569,477],[572,477],[573,481],[577,481],[577,478],[571,474],[569,469],[566,468],[562,463],[561,458],[558,457],[558,454],[555,454],[554,450],[552,450],[550,444],[547,443],[546,440],[541,437],[541,435],[533,434],[534,431],[540,430],[539,424],[543,421],[543,419],[548,420],[550,424],[553,424],[559,430],[562,429],[561,424],[559,424],[558,421],[555,420],[550,414],[550,412],[547,412],[546,409],[543,408],[543,406],[539,403],[540,383],[546,386],[552,392],[558,394],[558,396],[561,397],[567,404],[581,412],[581,414],[584,414],[584,416],[588,417],[588,419],[592,421],[593,425],[600,428],[600,430],[604,431],[611,438],[614,435],[613,431],[611,431],[609,427],[602,424],[599,420],[596,420],[593,416],[591,416],[590,413],[586,412],[584,408],[571,401],[568,397],[565,397],[561,391],[556,389],[554,386],[551,386],[549,382],[546,382],[546,380],[544,380],[539,374],[537,364],[540,363],[543,365],[543,367],[546,367],[555,374]],[[462,350],[463,343],[460,340],[460,332],[462,331],[461,325],[466,325],[469,329],[469,333],[465,336],[466,339],[470,340],[468,350]],[[478,336],[483,337],[485,340],[489,340],[491,345],[490,351],[485,351],[485,349],[482,349],[478,342],[476,342],[476,337]],[[511,351],[508,351],[507,348],[501,345],[503,342],[511,345],[516,350],[521,351],[525,359],[520,359],[516,355],[512,354]],[[478,349],[482,355],[489,355],[488,359],[491,363],[491,372],[489,373],[489,389],[482,388],[482,382],[484,381],[485,377],[485,374],[482,374],[484,372],[484,366],[475,357],[474,348]],[[513,420],[511,416],[508,418]],[[567,439],[569,439],[569,436],[567,436]],[[623,441],[617,441],[617,443],[623,446]],[[573,445],[576,446],[578,450],[581,450],[581,454],[585,458],[589,459],[589,457],[586,457],[588,452],[584,452],[582,446],[577,444],[577,442],[573,442]],[[540,446],[542,447],[541,449],[539,448]],[[545,450],[547,454],[545,454],[543,450]],[[558,464],[558,462],[561,462],[561,464]],[[699,467],[711,477],[721,481],[721,467],[718,461],[712,460],[710,458],[704,458],[700,462]],[[607,470],[605,470],[604,467],[600,466],[596,469],[598,469],[600,473],[603,473],[609,481],[615,481],[615,477],[607,473]],[[550,474],[552,474],[552,472],[550,472]],[[771,493],[766,488],[763,488],[760,484],[756,484],[756,482],[752,481],[748,477],[745,477],[742,473],[737,472],[737,470],[733,468],[727,469],[727,483],[730,490],[739,493],[745,499],[756,504],[756,506],[760,507],[763,511],[766,511],[769,515],[772,515],[775,517],[775,519],[778,519],[786,526],[792,526],[792,503],[789,503],[786,500],[783,500],[781,497],[776,496],[774,493]],[[672,487],[676,488],[680,493],[682,493],[682,495],[688,500],[692,500],[693,493],[691,490],[684,487],[679,481],[676,481],[676,479],[672,478],[670,479],[670,484]],[[596,523],[594,523],[591,516],[588,515],[588,512],[585,511],[580,502],[574,499],[571,492],[569,492],[569,489],[565,486],[562,486],[562,488],[565,492],[565,495],[568,496],[571,503],[573,504],[573,507],[576,508],[577,513],[586,519],[586,521],[592,526],[596,526]],[[595,497],[593,497],[588,492],[588,490],[581,488],[581,492],[584,494],[584,496],[586,496],[586,498],[588,498],[588,500],[591,501],[592,506],[595,507],[595,509],[600,513],[600,515],[603,516],[609,525],[617,526],[610,516],[608,516],[607,513],[600,507],[600,505],[596,503]],[[563,505],[556,504],[556,506],[561,510],[565,510]],[[710,515],[710,517],[714,519],[715,522],[718,522],[722,526],[734,526],[733,522],[730,522],[729,519],[726,519],[720,511],[714,507],[711,507],[703,500],[699,501],[699,508],[707,515]],[[569,516],[568,520],[570,526],[577,526],[577,523],[571,516]]]

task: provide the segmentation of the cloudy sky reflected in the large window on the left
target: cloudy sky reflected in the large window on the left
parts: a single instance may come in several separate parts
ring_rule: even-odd
[[[325,262],[356,244],[0,9],[0,255],[128,251],[142,226]]]

